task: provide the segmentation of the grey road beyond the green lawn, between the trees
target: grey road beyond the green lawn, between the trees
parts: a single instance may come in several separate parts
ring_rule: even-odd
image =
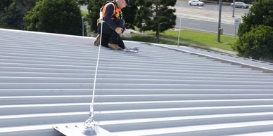
[[[217,33],[219,5],[205,4],[205,6],[189,6],[187,2],[177,1],[177,5],[174,8],[177,9],[176,29],[179,28],[181,18],[182,29],[196,29],[204,32]],[[232,11],[232,6],[222,6],[221,27],[224,29],[224,35],[235,36],[235,18],[231,18]],[[248,11],[249,9],[235,8],[235,16],[236,18],[241,18],[241,16],[248,13]],[[210,19],[209,16],[211,17]]]

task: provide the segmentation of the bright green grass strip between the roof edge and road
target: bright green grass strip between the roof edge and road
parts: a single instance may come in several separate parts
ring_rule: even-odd
[[[162,37],[166,37],[169,39],[174,39],[177,40],[179,31],[174,31],[174,30],[168,30],[160,34]],[[155,35],[155,32],[146,32],[146,34],[151,34]],[[134,39],[134,36],[133,36]],[[141,41],[140,37],[137,37],[138,41]],[[143,41],[149,40],[147,42],[155,42],[155,39],[153,38],[143,38]],[[135,40],[135,39],[134,39]],[[236,41],[234,37],[231,36],[221,36],[221,43],[217,42],[217,34],[212,34],[208,32],[199,32],[199,31],[194,31],[194,30],[189,30],[189,29],[184,29],[181,30],[180,32],[180,41],[185,42],[185,43],[194,43],[197,45],[202,45],[202,46],[210,46],[210,47],[215,47],[215,48],[221,48],[224,50],[231,50],[234,51],[231,48],[231,45]],[[166,41],[163,41],[164,43]],[[172,42],[170,42],[172,43]],[[172,43],[173,45],[177,45],[177,43]]]

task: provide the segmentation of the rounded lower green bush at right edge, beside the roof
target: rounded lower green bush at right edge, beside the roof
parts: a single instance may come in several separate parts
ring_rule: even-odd
[[[239,56],[252,57],[259,60],[273,58],[273,27],[259,25],[250,32],[243,34],[236,41],[234,48],[239,51]]]

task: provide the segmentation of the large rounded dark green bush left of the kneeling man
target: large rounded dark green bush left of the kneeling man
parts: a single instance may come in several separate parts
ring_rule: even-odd
[[[30,31],[82,34],[82,15],[75,0],[42,0],[24,18]]]

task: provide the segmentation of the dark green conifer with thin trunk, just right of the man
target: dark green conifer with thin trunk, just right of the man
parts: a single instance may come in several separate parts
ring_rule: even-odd
[[[159,43],[160,32],[175,26],[175,9],[170,7],[176,2],[176,0],[136,0],[136,5],[139,6],[136,11],[136,27],[139,27],[140,31],[156,32]]]

